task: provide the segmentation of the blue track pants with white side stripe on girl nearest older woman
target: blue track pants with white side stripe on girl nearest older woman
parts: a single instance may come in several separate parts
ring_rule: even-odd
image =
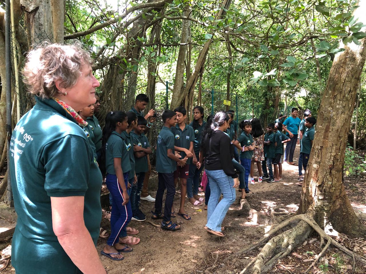
[[[123,174],[124,183],[128,185],[128,172]],[[109,246],[119,242],[118,237],[127,236],[127,225],[132,218],[131,201],[122,205],[124,201],[123,191],[118,182],[117,176],[107,174],[105,178],[109,193],[112,194],[112,212],[111,212],[111,235],[107,240]]]

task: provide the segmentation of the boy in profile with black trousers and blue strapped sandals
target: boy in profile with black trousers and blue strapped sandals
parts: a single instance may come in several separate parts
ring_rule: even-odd
[[[180,225],[173,223],[171,219],[171,209],[175,195],[174,187],[174,171],[177,169],[176,163],[184,167],[188,157],[183,160],[175,156],[174,153],[174,135],[170,131],[175,126],[177,115],[172,110],[165,110],[163,113],[164,126],[161,129],[156,142],[156,171],[158,172],[158,190],[155,197],[155,211],[153,219],[163,219],[160,227],[163,229],[175,231]],[[163,195],[167,189],[167,197],[165,198],[164,214],[161,213],[163,208]]]

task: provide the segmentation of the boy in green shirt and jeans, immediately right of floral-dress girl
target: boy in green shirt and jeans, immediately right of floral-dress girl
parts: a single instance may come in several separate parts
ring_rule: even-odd
[[[275,143],[275,134],[273,130],[275,129],[274,123],[268,123],[267,125],[267,133],[264,136],[264,161],[262,161],[262,171],[263,171],[263,180],[267,180],[267,183],[273,183],[273,172],[272,172],[272,160],[276,155],[276,146]],[[267,165],[267,166],[266,166]],[[267,173],[267,167],[269,176]]]

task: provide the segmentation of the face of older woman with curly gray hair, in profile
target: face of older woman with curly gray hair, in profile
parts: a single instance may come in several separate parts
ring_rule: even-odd
[[[95,88],[99,86],[99,81],[94,77],[90,64],[83,64],[76,84],[65,91],[70,101],[86,107],[96,102]]]

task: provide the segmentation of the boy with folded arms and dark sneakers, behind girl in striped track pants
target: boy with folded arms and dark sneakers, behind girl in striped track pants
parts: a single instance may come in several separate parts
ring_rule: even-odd
[[[134,144],[134,156],[135,156],[135,174],[137,176],[137,183],[132,185],[132,192],[136,193],[136,198],[134,201],[134,205],[131,204],[132,215],[135,221],[145,220],[145,214],[139,209],[140,205],[140,196],[141,190],[143,186],[143,180],[145,178],[145,173],[148,170],[147,163],[147,155],[152,153],[150,148],[150,143],[147,140],[145,134],[143,134],[145,127],[147,125],[147,121],[142,116],[137,117],[137,127],[132,134],[132,141]]]

